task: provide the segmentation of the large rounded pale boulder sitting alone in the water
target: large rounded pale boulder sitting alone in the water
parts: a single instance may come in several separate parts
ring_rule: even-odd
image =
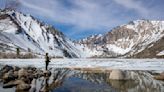
[[[111,80],[125,80],[126,75],[122,70],[112,70],[109,79]]]

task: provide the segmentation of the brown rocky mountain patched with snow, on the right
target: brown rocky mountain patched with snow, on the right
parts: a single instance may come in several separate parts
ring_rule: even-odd
[[[164,55],[164,21],[131,21],[77,43],[90,57],[160,57]]]

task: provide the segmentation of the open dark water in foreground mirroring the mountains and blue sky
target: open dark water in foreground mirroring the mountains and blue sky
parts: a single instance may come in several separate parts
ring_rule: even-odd
[[[52,69],[51,72],[50,77],[36,79],[30,92],[164,92],[164,83],[155,80],[147,71],[130,71],[137,76],[135,80],[127,81],[109,80],[110,73],[105,72],[63,68]],[[4,90],[0,87],[0,91]]]

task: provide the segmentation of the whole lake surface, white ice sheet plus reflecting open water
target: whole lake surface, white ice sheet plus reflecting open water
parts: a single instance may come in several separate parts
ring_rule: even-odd
[[[32,65],[37,68],[44,68],[44,60],[42,59],[0,60],[0,67],[6,64],[20,67]],[[85,66],[88,68],[123,69],[135,73],[137,77],[135,80],[116,81],[109,79],[110,73],[108,72],[66,69],[66,67],[84,68]],[[52,60],[50,68],[52,75],[49,78],[42,77],[36,80],[36,92],[39,92],[43,87],[47,89],[47,92],[164,92],[164,82],[155,80],[151,75],[152,72],[164,71],[162,69],[164,68],[162,59],[122,61],[121,59]],[[0,92],[15,92],[15,88],[4,89],[1,82]]]

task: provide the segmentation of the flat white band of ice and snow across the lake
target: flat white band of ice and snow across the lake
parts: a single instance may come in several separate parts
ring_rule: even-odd
[[[6,64],[38,68],[45,66],[44,59],[0,59],[0,65]],[[49,67],[164,71],[164,59],[52,59]]]

